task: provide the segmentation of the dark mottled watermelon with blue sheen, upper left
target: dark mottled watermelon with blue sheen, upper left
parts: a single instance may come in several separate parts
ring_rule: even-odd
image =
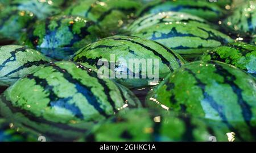
[[[53,59],[69,59],[77,49],[101,38],[100,28],[80,16],[51,16],[38,20],[20,43],[38,48]]]

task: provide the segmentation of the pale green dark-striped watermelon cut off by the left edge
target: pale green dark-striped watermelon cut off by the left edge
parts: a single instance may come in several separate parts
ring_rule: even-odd
[[[49,63],[42,53],[18,45],[0,47],[0,85],[14,84],[20,77],[34,72],[40,66]]]

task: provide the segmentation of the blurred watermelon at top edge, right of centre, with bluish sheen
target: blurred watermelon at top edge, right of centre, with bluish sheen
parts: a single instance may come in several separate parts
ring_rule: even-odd
[[[209,21],[220,20],[224,16],[225,11],[220,9],[216,3],[207,1],[164,1],[157,0],[148,3],[142,9],[138,10],[137,16],[144,14],[161,13],[163,11],[177,11],[199,16]]]

